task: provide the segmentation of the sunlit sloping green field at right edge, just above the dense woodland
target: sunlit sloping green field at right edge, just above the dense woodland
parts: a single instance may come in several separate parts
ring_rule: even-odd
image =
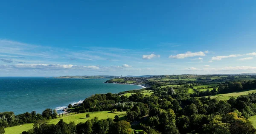
[[[239,96],[239,95],[247,95],[248,93],[253,93],[256,92],[256,89],[250,89],[250,90],[246,90],[243,92],[232,92],[232,93],[227,93],[227,94],[218,94],[218,95],[214,95],[214,96],[210,96],[210,98],[216,98],[218,100],[228,100],[231,96]]]

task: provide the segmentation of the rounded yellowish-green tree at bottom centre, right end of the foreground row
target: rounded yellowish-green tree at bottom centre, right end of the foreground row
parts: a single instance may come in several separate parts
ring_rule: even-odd
[[[121,120],[112,124],[109,134],[134,134],[134,131],[129,122]]]

